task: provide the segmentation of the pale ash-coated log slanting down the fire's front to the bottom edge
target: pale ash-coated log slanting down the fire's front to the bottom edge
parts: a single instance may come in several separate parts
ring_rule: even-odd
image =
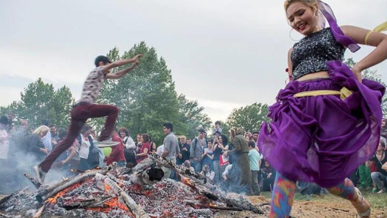
[[[147,213],[145,213],[144,209],[139,206],[128,194],[125,193],[121,187],[117,185],[116,182],[111,180],[108,176],[98,175],[98,177],[103,178],[105,184],[111,187],[111,190],[115,192],[117,196],[120,196],[128,208],[135,214],[137,218],[149,218]]]

